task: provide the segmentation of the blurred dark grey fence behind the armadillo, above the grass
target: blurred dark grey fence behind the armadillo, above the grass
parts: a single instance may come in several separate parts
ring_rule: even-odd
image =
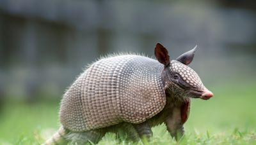
[[[220,1],[2,0],[0,95],[60,97],[100,55],[152,56],[158,41],[172,59],[198,45],[192,66],[206,82],[253,76],[255,25],[254,10]]]

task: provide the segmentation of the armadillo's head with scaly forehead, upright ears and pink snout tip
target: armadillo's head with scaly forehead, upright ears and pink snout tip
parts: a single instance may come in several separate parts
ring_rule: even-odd
[[[188,67],[195,55],[195,49],[196,47],[180,55],[176,60],[170,61],[166,48],[157,43],[155,55],[157,60],[164,64],[163,81],[167,90],[184,97],[207,100],[213,96],[213,93],[204,86],[198,74]]]

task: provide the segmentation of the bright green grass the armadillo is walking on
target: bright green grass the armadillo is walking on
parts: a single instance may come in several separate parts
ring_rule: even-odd
[[[209,87],[214,97],[207,101],[193,99],[186,135],[179,142],[170,137],[164,125],[159,125],[152,128],[154,138],[150,144],[256,144],[256,84],[246,84]],[[0,144],[44,142],[60,126],[58,104],[4,103],[0,111]],[[99,144],[132,144],[116,138],[108,133]]]

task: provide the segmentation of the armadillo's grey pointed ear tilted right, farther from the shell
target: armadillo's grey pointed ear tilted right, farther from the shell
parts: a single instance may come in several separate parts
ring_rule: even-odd
[[[181,62],[182,64],[189,65],[194,58],[196,47],[197,45],[192,50],[189,50],[188,52],[185,52],[182,55],[180,55],[176,60]]]

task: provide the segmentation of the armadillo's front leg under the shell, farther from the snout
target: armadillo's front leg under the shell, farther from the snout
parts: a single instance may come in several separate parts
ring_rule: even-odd
[[[134,126],[135,130],[138,132],[138,134],[140,135],[141,141],[144,144],[148,144],[148,142],[150,141],[150,139],[153,136],[153,132],[152,132],[151,127],[148,124],[148,122],[145,121],[140,124],[134,124],[133,126]]]

